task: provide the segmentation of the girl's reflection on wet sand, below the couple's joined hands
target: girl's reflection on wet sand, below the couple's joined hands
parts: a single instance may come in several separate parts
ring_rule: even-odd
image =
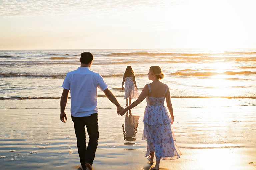
[[[134,116],[131,113],[131,110],[126,112],[125,115],[125,125],[122,125],[123,127],[123,134],[124,134],[124,140],[126,141],[135,141],[136,140],[136,133],[139,126],[139,116]],[[132,145],[135,143],[132,142],[126,142],[125,145]]]

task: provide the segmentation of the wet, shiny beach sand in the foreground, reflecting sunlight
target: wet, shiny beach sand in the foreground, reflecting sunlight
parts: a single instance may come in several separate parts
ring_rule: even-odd
[[[125,104],[123,98],[118,100]],[[146,141],[141,140],[143,102],[131,115],[120,116],[106,98],[99,99],[99,108],[109,105],[109,109],[98,111],[100,138],[94,170],[149,170],[154,166],[144,156]],[[44,106],[39,106],[40,100],[26,103],[34,105],[0,109],[0,169],[79,169],[69,105],[64,124],[59,118],[59,100]],[[172,127],[182,155],[161,160],[160,170],[256,169],[255,99],[174,98],[172,104]]]

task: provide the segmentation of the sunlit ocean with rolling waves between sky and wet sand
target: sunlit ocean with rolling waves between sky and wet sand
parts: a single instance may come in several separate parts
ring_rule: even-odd
[[[256,48],[0,50],[0,108],[58,108],[65,75],[80,66],[82,52],[94,55],[90,70],[101,74],[120,99],[128,65],[135,72],[139,93],[151,82],[149,67],[158,65],[171,98],[235,98],[255,103]],[[105,98],[100,90],[98,98]]]

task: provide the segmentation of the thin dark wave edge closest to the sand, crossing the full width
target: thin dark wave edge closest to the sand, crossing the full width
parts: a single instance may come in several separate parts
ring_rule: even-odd
[[[115,95],[124,97],[124,95]],[[98,95],[98,97],[106,97]],[[70,97],[68,97],[70,99]],[[221,99],[256,99],[256,96],[171,96],[171,98],[221,98]],[[60,99],[60,97],[2,97],[0,100],[31,100],[31,99]]]

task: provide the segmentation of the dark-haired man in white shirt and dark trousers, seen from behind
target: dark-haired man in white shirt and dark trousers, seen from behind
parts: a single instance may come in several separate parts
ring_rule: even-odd
[[[81,66],[77,70],[68,72],[63,82],[63,92],[60,101],[60,120],[67,120],[65,107],[68,93],[71,95],[71,118],[77,138],[77,148],[80,157],[80,168],[92,170],[92,163],[98,146],[98,108],[97,87],[102,90],[107,98],[116,105],[117,110],[123,109],[116,97],[108,89],[107,84],[100,74],[90,71],[93,55],[90,52],[81,54]],[[123,116],[124,114],[120,114]],[[86,148],[85,126],[89,135],[89,143]]]

